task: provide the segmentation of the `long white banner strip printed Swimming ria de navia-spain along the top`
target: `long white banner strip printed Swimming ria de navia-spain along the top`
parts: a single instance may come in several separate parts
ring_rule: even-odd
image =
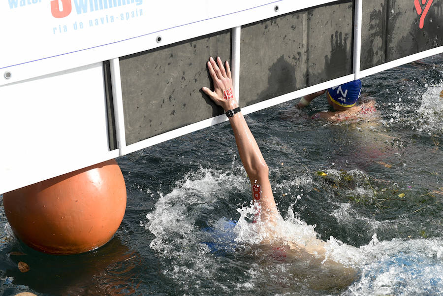
[[[0,85],[326,2],[333,1],[2,0]]]

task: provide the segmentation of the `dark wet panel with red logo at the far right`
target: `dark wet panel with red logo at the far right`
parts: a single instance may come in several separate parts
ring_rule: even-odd
[[[363,1],[361,70],[442,46],[443,1],[432,2],[422,29],[419,21],[412,0]]]

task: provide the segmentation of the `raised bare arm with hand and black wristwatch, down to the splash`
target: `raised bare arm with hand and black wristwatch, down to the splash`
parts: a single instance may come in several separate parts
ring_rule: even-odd
[[[238,108],[238,101],[233,96],[234,89],[229,63],[225,62],[225,68],[220,57],[217,58],[217,62],[211,57],[207,66],[214,82],[214,91],[203,87],[203,92],[221,106],[225,112]],[[268,216],[267,213],[276,213],[268,166],[241,111],[237,111],[229,117],[229,123],[234,132],[240,159],[251,181],[253,201],[260,204],[262,217],[263,214]]]

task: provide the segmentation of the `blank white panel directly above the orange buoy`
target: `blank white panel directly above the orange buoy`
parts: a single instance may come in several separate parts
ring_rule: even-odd
[[[0,194],[118,157],[103,64],[0,88]]]

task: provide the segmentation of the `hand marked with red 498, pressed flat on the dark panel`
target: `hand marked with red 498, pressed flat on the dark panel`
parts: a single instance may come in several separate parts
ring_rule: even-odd
[[[218,65],[217,65],[218,64]],[[238,102],[234,98],[234,87],[232,85],[231,69],[229,63],[226,61],[226,70],[221,62],[220,57],[217,57],[217,63],[211,57],[207,64],[209,74],[214,82],[214,91],[207,87],[201,90],[209,96],[217,105],[221,106],[224,111],[232,110],[238,107]]]

